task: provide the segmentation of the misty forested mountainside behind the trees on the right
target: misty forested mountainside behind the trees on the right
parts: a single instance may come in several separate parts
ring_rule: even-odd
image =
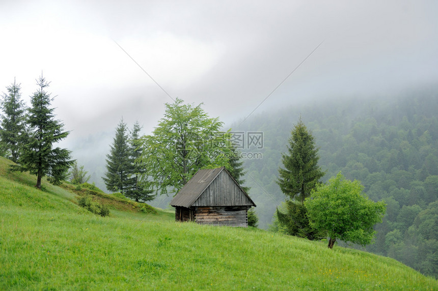
[[[397,97],[346,98],[254,115],[239,131],[263,132],[261,159],[245,159],[247,186],[267,228],[285,200],[276,184],[281,153],[302,117],[319,147],[325,182],[342,171],[357,179],[387,212],[367,251],[438,275],[438,93],[413,90]],[[355,247],[355,246],[353,246]]]

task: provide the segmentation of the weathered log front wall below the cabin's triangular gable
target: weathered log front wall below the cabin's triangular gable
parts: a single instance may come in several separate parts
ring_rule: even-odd
[[[200,224],[248,227],[248,207],[196,207],[195,221]]]

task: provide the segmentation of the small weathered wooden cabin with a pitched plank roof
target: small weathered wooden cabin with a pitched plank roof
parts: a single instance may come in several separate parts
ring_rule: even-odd
[[[248,227],[248,209],[255,207],[225,168],[202,169],[170,201],[176,221]]]

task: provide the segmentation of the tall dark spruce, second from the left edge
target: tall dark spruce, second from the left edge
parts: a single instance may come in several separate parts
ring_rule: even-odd
[[[23,145],[17,164],[11,166],[15,171],[29,171],[37,176],[36,188],[41,189],[41,179],[59,185],[67,179],[68,169],[73,164],[71,152],[53,144],[66,138],[69,134],[64,131],[64,124],[55,119],[54,108],[50,108],[53,98],[45,91],[49,82],[42,76],[37,80],[39,86],[31,96],[31,107],[26,124],[29,127],[29,137]]]

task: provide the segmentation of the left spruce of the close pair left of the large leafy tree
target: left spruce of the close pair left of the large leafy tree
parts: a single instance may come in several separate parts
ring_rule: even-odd
[[[105,177],[102,177],[106,189],[122,194],[128,188],[132,173],[128,138],[127,127],[122,119],[117,125],[113,144],[110,145],[110,154],[106,155],[106,172]]]

